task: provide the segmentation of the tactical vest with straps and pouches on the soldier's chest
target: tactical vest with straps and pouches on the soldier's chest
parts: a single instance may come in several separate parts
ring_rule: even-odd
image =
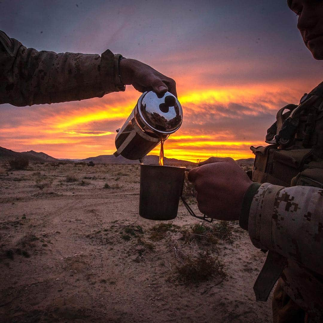
[[[267,130],[269,145],[250,147],[255,154],[252,180],[323,188],[323,82],[298,105],[280,109],[276,119]]]

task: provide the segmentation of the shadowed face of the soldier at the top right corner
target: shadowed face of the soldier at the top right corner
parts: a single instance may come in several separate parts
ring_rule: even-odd
[[[323,0],[293,0],[291,9],[306,47],[315,59],[323,59]]]

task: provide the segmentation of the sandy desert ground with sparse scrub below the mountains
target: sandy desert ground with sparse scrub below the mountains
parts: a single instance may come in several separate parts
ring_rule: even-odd
[[[139,165],[0,170],[1,322],[271,322],[236,222],[139,216]],[[196,200],[188,197],[198,213]]]

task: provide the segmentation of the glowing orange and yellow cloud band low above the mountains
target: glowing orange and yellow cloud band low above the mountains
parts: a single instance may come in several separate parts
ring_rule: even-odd
[[[180,83],[184,81],[180,79]],[[190,161],[216,154],[234,159],[252,157],[249,146],[264,144],[266,126],[273,121],[276,110],[297,102],[298,94],[304,92],[302,86],[263,83],[178,89],[183,125],[165,142],[165,156]],[[129,116],[139,96],[130,87],[125,93],[111,93],[104,98],[48,108],[33,106],[32,116],[25,110],[24,115],[16,117],[15,124],[8,113],[0,129],[2,145],[16,151],[44,151],[57,158],[112,154],[115,129]],[[158,154],[159,147],[151,153]]]

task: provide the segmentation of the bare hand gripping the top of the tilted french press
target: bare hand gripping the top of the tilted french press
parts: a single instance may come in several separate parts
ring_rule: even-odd
[[[132,85],[140,92],[154,90],[157,94],[164,94],[169,91],[177,97],[176,84],[172,78],[161,74],[136,59],[121,59],[119,72],[124,84]]]

